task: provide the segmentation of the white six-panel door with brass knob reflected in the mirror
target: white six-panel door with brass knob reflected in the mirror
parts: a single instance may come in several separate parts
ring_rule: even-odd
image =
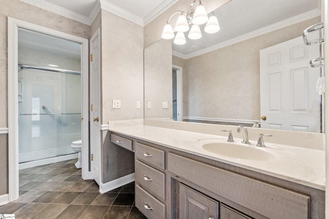
[[[302,37],[260,51],[262,128],[320,132],[320,69],[309,66],[319,56]]]

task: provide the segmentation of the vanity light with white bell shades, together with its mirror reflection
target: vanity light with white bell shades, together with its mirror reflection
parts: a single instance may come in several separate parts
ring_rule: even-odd
[[[195,11],[193,11],[192,7],[194,3],[198,1],[199,5],[196,7]],[[170,19],[175,15],[180,13],[177,18],[175,33],[173,28],[169,24]],[[207,24],[206,24],[207,23]],[[192,24],[191,30],[189,25]],[[161,37],[163,39],[172,39],[174,38],[174,43],[177,45],[183,45],[186,43],[184,32],[190,30],[188,37],[190,39],[199,39],[202,37],[202,33],[199,25],[206,24],[205,32],[206,33],[216,33],[220,30],[220,25],[218,24],[217,17],[214,12],[212,12],[212,16],[208,18],[205,6],[202,5],[201,0],[194,0],[191,3],[190,9],[188,12],[185,11],[176,11],[167,20],[167,24],[163,28]]]

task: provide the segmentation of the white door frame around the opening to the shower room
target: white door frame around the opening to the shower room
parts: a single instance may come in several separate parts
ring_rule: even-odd
[[[18,28],[24,28],[81,44],[81,132],[82,178],[90,178],[88,158],[88,39],[8,17],[8,181],[9,202],[19,197],[19,127],[18,127]]]

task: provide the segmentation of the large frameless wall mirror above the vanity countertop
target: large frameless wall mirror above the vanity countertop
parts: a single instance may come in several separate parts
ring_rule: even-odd
[[[206,2],[204,5],[207,7]],[[316,85],[323,69],[309,66],[310,59],[323,56],[321,45],[306,46],[302,38],[306,28],[321,22],[321,11],[320,0],[232,0],[214,11],[219,32],[203,32],[196,40],[186,36],[185,45],[161,39],[149,46],[144,51],[145,63],[156,63],[163,57],[168,41],[172,60],[161,62],[167,69],[170,66],[170,71],[161,74],[170,77],[167,81],[150,78],[145,68],[145,118],[159,114],[176,120],[178,105],[182,108],[178,118],[186,122],[246,126],[257,122],[261,128],[322,132],[323,102]],[[318,31],[312,37],[320,34]],[[152,55],[148,51],[153,51]],[[288,70],[285,63],[292,63]],[[274,70],[262,73],[271,65]],[[176,70],[182,75],[181,83],[173,80]],[[181,97],[172,97],[176,86],[181,88]],[[162,97],[167,92],[171,99],[166,111],[160,104],[167,102]],[[157,110],[147,109],[146,97],[151,94],[162,95]]]

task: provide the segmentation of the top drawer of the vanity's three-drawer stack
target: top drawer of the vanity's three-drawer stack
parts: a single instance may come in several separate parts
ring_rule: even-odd
[[[136,143],[135,156],[162,170],[165,169],[165,151]]]

